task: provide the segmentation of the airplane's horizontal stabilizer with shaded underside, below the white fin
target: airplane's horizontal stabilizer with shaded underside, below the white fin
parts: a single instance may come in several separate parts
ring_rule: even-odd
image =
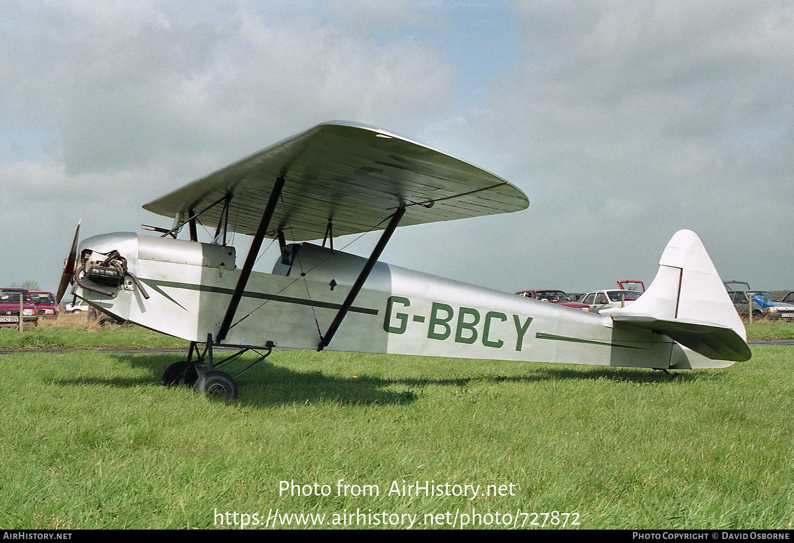
[[[621,325],[663,333],[684,347],[711,360],[750,360],[750,347],[744,338],[727,326],[715,322],[692,321],[683,318],[655,318],[646,315],[613,314],[612,321]]]

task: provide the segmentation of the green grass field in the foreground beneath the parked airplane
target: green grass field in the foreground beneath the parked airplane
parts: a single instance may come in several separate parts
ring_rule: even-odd
[[[124,341],[148,341],[128,330]],[[115,333],[102,341],[125,331],[94,335]],[[753,352],[675,379],[275,352],[238,379],[233,402],[160,386],[176,354],[10,354],[0,358],[0,528],[210,528],[234,520],[214,516],[225,512],[263,527],[278,509],[325,514],[325,527],[366,527],[357,512],[374,527],[460,527],[466,515],[474,527],[530,527],[544,516],[526,513],[558,511],[578,514],[569,528],[791,529],[794,347]],[[329,495],[279,492],[280,481]],[[476,499],[471,489],[405,496],[389,493],[394,481],[480,486]],[[278,526],[287,521],[297,519]]]

